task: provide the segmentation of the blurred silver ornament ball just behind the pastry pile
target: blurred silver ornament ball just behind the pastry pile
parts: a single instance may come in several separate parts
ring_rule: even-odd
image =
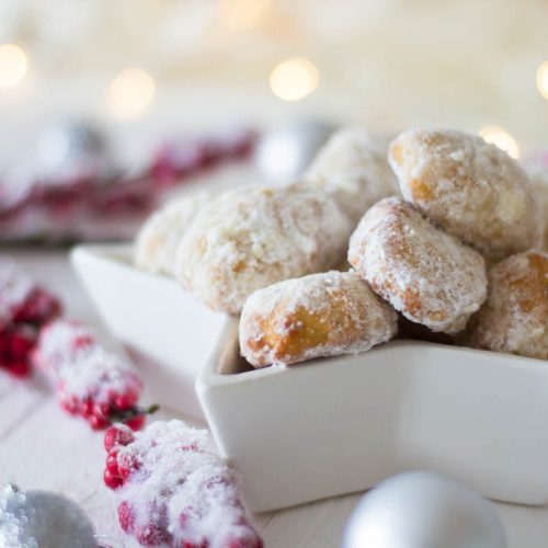
[[[301,122],[265,133],[254,155],[259,173],[269,183],[298,179],[334,129],[323,122]]]

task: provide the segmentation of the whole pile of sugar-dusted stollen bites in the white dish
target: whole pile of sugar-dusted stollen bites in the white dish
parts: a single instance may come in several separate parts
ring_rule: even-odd
[[[241,315],[240,349],[254,367],[365,352],[398,323],[547,359],[539,192],[477,136],[408,130],[388,142],[343,128],[299,182],[157,212],[135,264]]]

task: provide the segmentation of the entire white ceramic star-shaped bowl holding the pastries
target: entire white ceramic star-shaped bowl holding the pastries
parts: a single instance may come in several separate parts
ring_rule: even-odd
[[[401,340],[251,370],[236,319],[137,271],[129,251],[83,247],[73,260],[113,333],[155,362],[146,381],[161,402],[191,411],[195,380],[251,510],[361,491],[418,468],[492,499],[548,502],[546,361]]]

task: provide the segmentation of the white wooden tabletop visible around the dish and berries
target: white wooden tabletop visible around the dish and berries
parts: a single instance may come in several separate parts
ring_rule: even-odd
[[[15,259],[62,295],[69,316],[89,322],[107,338],[70,270],[66,251],[2,250],[0,255]],[[169,409],[160,414],[175,416],[180,415]],[[102,434],[60,411],[52,390],[39,379],[19,381],[0,372],[0,482],[62,492],[81,504],[96,530],[112,537],[116,546],[136,546],[123,537],[117,524],[114,495],[102,480],[104,458]],[[255,521],[266,548],[338,547],[358,498],[324,500],[258,515]],[[548,546],[548,507],[496,504],[496,510],[510,548]]]

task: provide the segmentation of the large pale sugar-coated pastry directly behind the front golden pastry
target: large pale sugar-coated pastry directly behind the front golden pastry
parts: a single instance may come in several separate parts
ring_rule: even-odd
[[[179,247],[175,274],[214,310],[239,313],[256,289],[336,264],[349,235],[347,219],[319,190],[235,190],[195,218]]]

